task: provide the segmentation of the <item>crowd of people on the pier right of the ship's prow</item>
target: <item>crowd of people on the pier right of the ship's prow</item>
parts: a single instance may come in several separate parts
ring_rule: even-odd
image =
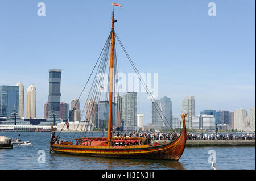
[[[255,140],[255,133],[187,133],[187,140]]]

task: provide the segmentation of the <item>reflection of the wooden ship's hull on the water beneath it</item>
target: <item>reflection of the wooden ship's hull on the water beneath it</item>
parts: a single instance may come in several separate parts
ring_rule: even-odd
[[[183,170],[184,167],[179,161],[168,160],[148,160],[148,159],[117,159],[107,157],[91,157],[91,156],[77,156],[68,154],[51,154],[51,161],[63,159],[69,161],[69,166],[72,166],[72,160],[76,160],[76,164],[80,163],[85,167],[80,169],[175,169]],[[77,160],[79,160],[77,162]],[[50,162],[51,162],[50,161]]]

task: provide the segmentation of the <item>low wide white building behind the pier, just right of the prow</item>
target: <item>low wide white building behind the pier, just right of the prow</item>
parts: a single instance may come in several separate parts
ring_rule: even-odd
[[[192,117],[192,129],[214,131],[216,121],[213,115],[196,115]]]

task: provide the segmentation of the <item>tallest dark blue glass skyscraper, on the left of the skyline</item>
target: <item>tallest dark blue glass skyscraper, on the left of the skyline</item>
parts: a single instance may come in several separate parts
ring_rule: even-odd
[[[55,115],[60,117],[60,81],[61,70],[49,69],[48,115],[55,111]]]

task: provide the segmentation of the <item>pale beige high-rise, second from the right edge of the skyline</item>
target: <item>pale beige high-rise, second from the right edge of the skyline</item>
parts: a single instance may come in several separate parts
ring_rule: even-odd
[[[247,111],[243,108],[234,110],[234,129],[237,131],[247,130]]]

